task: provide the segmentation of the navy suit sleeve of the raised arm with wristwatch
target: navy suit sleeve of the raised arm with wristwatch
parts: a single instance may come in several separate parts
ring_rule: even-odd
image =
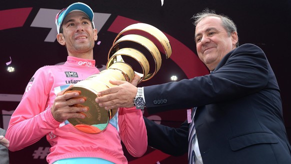
[[[264,52],[244,44],[226,54],[212,74],[144,86],[145,106],[152,114],[240,98],[264,88],[268,71]],[[166,103],[155,103],[157,99]]]

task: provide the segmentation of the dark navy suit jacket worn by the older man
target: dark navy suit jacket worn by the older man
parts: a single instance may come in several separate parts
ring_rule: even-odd
[[[194,123],[204,164],[291,163],[279,87],[264,52],[253,44],[227,53],[212,74],[145,86],[144,96],[149,113],[197,106]],[[155,139],[166,136],[172,137]]]

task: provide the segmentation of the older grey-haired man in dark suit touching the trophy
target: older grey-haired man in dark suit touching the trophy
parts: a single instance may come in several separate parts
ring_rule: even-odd
[[[192,123],[178,129],[144,119],[149,145],[170,154],[188,148],[189,163],[291,163],[279,86],[262,49],[238,46],[236,26],[225,15],[206,9],[193,18],[197,53],[210,74],[138,88],[111,81],[119,86],[100,91],[96,101],[133,106],[141,95],[140,108],[149,113],[195,106]]]

